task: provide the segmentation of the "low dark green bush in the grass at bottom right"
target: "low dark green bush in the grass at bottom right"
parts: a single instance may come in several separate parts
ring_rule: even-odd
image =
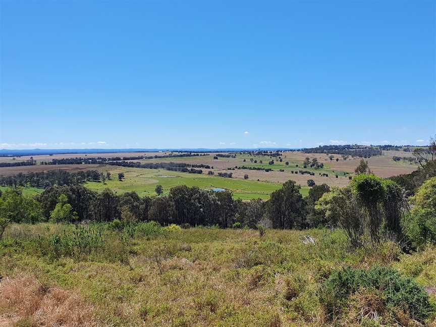
[[[403,277],[392,268],[373,266],[369,270],[346,268],[334,271],[320,290],[320,302],[328,314],[341,315],[350,295],[362,289],[375,290],[391,310],[409,312],[412,318],[424,321],[432,313],[428,294],[415,281]]]

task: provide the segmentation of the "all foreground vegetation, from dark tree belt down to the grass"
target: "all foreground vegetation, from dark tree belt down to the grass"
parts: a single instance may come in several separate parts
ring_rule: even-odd
[[[436,142],[420,153],[410,175],[362,159],[347,187],[305,198],[292,180],[249,202],[186,185],[6,190],[0,324],[435,325]]]

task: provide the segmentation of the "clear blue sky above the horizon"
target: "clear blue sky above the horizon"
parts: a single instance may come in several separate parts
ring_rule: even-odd
[[[434,1],[0,2],[0,148],[425,144]]]

